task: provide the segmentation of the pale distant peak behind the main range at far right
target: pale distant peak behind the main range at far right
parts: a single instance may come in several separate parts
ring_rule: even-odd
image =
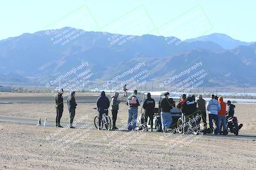
[[[220,46],[222,46],[225,49],[232,49],[236,48],[236,46],[239,45],[252,45],[255,42],[244,42],[244,41],[239,41],[237,39],[233,39],[230,36],[227,36],[226,34],[220,34],[220,33],[214,33],[214,34],[209,34],[207,36],[200,36],[198,38],[193,38],[193,39],[187,39],[187,42],[195,42],[195,41],[211,41],[213,43],[216,43]]]

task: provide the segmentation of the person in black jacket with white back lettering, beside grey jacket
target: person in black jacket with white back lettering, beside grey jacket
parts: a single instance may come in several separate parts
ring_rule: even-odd
[[[184,134],[188,134],[188,122],[189,122],[189,118],[193,119],[197,108],[196,108],[196,103],[194,101],[194,98],[191,94],[187,95],[187,99],[184,101],[184,103],[181,106],[181,111],[182,113],[184,113]]]

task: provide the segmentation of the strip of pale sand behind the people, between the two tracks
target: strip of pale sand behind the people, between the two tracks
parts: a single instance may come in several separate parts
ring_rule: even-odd
[[[77,101],[79,102],[79,101]],[[1,104],[0,115],[8,115],[13,117],[38,117],[45,118],[47,120],[54,120],[56,117],[54,103],[35,103],[35,104]],[[66,104],[64,106],[63,117],[61,120],[68,121],[68,111]],[[88,117],[88,121],[92,122],[93,118],[97,114],[93,108],[96,107],[95,103],[81,103],[77,106],[76,118],[81,118],[83,115]],[[111,115],[111,114],[110,114]],[[124,125],[127,122],[127,106],[120,104],[120,111],[118,112],[118,125]],[[239,123],[243,124],[241,132],[256,133],[256,104],[243,104],[236,103],[236,113]]]

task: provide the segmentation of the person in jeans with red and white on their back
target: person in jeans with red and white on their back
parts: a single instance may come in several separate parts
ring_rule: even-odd
[[[133,94],[127,98],[127,105],[128,107],[128,131],[135,131],[136,129],[136,122],[138,117],[138,106],[140,106],[140,99],[137,96],[138,91],[134,90]]]

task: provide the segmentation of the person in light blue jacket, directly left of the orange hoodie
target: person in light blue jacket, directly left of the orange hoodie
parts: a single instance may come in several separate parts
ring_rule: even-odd
[[[213,121],[214,121],[217,128],[214,134],[217,134],[217,132],[219,132],[219,129],[220,129],[218,112],[220,111],[221,106],[220,106],[220,103],[216,99],[214,99],[215,97],[214,94],[212,94],[211,97],[212,99],[206,105],[206,110],[209,112],[209,125],[210,125],[211,132],[214,132],[212,127]]]

